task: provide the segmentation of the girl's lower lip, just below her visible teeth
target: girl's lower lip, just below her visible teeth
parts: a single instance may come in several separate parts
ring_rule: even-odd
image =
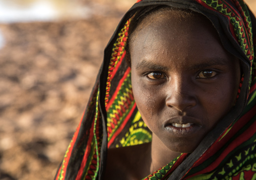
[[[176,137],[191,137],[193,135],[196,135],[197,132],[202,128],[202,126],[199,124],[193,124],[189,127],[174,127],[171,124],[168,124],[164,128]]]

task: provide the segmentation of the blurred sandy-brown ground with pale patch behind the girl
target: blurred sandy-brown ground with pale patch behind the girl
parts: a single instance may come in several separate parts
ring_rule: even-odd
[[[256,0],[246,0],[256,14]],[[135,0],[0,0],[0,179],[53,179]]]

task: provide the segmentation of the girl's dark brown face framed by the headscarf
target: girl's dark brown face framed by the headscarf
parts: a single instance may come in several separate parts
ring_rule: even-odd
[[[132,87],[142,118],[153,141],[160,139],[158,144],[171,151],[192,152],[234,105],[239,61],[199,15],[159,18],[135,31]]]

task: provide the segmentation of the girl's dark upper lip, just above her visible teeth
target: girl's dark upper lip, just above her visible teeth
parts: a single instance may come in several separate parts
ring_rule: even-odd
[[[164,123],[164,127],[166,127],[167,125],[170,125],[172,123],[176,123],[176,124],[193,123],[193,124],[201,125],[200,120],[195,118],[195,117],[191,117],[191,116],[175,116],[175,117],[172,117],[172,118],[168,119]]]

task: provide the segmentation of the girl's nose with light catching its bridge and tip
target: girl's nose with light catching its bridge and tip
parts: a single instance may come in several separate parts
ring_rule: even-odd
[[[176,77],[168,82],[166,105],[180,112],[196,106],[195,85],[189,78]]]

